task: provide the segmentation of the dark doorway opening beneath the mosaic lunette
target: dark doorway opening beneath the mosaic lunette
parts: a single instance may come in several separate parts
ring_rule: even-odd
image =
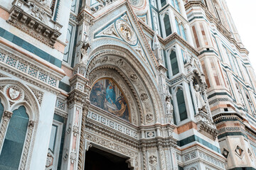
[[[91,147],[85,153],[85,170],[130,170],[126,159]]]

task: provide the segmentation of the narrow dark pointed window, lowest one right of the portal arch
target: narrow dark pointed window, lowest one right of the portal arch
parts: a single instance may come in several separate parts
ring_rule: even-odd
[[[178,88],[176,93],[177,104],[178,104],[178,113],[180,116],[180,120],[186,120],[188,118],[188,114],[186,112],[186,103],[183,95],[183,91]]]

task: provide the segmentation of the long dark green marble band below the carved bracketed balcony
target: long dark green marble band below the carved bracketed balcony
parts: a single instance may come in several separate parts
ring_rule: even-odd
[[[28,43],[25,40],[18,38],[16,35],[10,33],[7,30],[4,30],[4,28],[1,28],[1,27],[0,27],[0,36],[2,38],[5,38],[6,40],[13,42],[14,44],[18,45],[19,47],[22,47],[23,49],[28,50],[29,52],[33,53],[34,55],[41,57],[43,60],[46,60],[47,62],[50,62],[51,64],[54,64],[57,67],[61,67],[62,61],[58,60],[57,58],[53,57],[52,55],[49,55],[47,52],[44,52],[43,50],[39,49],[38,47],[31,45],[31,43]]]

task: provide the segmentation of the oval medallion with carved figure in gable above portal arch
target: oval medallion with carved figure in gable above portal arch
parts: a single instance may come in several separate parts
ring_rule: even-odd
[[[116,21],[117,32],[121,36],[121,38],[129,43],[130,45],[137,44],[137,35],[135,34],[132,26],[129,25],[126,21],[119,19]]]

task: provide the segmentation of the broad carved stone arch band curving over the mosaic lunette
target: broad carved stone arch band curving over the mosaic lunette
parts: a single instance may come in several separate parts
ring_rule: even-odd
[[[139,113],[137,115],[140,115],[140,123],[149,124],[149,122],[160,122],[161,117],[164,116],[164,111],[161,107],[161,98],[156,89],[156,84],[154,84],[156,80],[154,77],[149,76],[137,58],[128,50],[114,45],[99,47],[91,53],[95,53],[96,55],[90,57],[85,77],[88,77],[90,81],[94,82],[98,77],[90,74],[98,69],[113,69],[114,72],[117,72],[122,77],[127,86],[129,86],[127,90],[132,91],[132,95],[139,106]],[[152,122],[146,121],[146,115],[149,113],[154,115],[154,121]]]

